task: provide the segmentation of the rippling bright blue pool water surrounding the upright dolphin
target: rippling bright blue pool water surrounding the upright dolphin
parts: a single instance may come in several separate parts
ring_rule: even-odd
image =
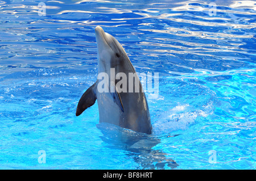
[[[159,73],[150,136],[75,116],[98,25]],[[0,169],[255,169],[255,32],[256,1],[0,1]]]

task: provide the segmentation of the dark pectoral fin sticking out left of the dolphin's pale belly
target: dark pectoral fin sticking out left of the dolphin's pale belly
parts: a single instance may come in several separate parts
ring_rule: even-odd
[[[96,102],[97,96],[94,91],[95,86],[96,83],[90,86],[89,89],[87,89],[81,96],[79,103],[77,104],[76,116],[81,115],[81,113],[84,112],[84,110],[86,110],[88,107],[93,106],[93,104]]]

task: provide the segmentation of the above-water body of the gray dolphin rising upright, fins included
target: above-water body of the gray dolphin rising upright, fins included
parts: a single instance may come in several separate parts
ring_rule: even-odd
[[[129,57],[122,45],[112,35],[105,33],[100,26],[95,28],[95,33],[98,48],[98,78],[96,83],[81,96],[76,116],[81,115],[97,99],[100,123],[110,123],[135,132],[151,134],[152,126],[146,96],[138,76],[134,74],[136,72]],[[112,70],[114,70],[114,75],[112,75]],[[108,75],[108,79],[104,81],[109,83],[104,84],[104,77],[99,77],[102,73]],[[132,79],[129,73],[134,75]],[[113,76],[114,82],[110,79]],[[126,85],[123,83],[117,86],[118,82],[125,81]],[[134,83],[131,84],[129,81]],[[139,91],[134,90],[136,89],[135,82],[139,85]],[[102,87],[109,91],[100,91]]]

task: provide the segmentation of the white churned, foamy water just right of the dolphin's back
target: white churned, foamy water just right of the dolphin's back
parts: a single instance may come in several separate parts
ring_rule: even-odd
[[[160,82],[163,82],[160,85],[162,99],[149,99],[149,102],[158,103],[151,110],[154,134],[187,129],[213,113],[216,94],[207,86],[170,78],[162,78]]]

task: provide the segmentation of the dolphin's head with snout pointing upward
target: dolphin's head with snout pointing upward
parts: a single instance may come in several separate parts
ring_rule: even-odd
[[[112,35],[105,33],[100,26],[95,28],[95,33],[100,64],[108,64],[114,68],[128,58],[122,45]]]

